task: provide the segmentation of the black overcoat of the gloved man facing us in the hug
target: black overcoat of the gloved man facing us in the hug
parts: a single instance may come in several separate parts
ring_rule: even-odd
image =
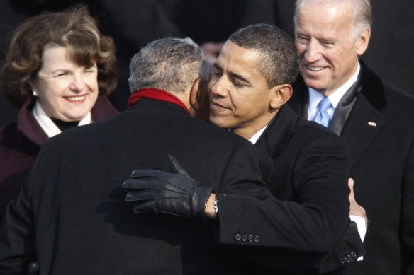
[[[236,228],[239,235],[260,232],[262,245],[279,247],[245,250],[244,256],[251,260],[245,274],[347,274],[349,264],[364,254],[364,247],[353,228],[356,225],[348,221],[345,228],[349,213],[345,142],[285,105],[255,146],[263,179],[279,201],[247,204],[242,199],[224,201],[219,197],[220,241],[255,245],[230,238],[229,229]],[[243,209],[245,215],[230,216],[227,207]],[[260,227],[265,223],[273,223],[272,231]]]

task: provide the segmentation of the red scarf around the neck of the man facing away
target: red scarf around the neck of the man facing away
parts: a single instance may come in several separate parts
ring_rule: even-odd
[[[165,101],[167,103],[174,103],[184,108],[187,112],[186,105],[181,102],[175,95],[167,93],[165,90],[158,90],[155,88],[141,88],[140,90],[135,90],[128,99],[128,108],[138,102],[142,98],[151,98],[155,100]],[[190,113],[190,112],[189,112]]]

